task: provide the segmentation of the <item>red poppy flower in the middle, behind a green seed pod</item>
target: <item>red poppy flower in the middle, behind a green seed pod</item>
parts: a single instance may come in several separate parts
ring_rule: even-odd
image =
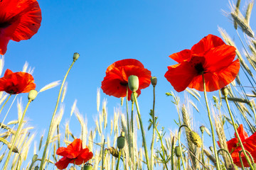
[[[151,72],[135,59],[119,60],[107,67],[106,76],[102,81],[102,91],[117,98],[125,97],[128,77],[131,75],[139,78],[139,89],[136,91],[139,96],[141,94],[140,89],[145,89],[151,83]],[[131,94],[132,91],[128,88],[128,100],[130,100]]]

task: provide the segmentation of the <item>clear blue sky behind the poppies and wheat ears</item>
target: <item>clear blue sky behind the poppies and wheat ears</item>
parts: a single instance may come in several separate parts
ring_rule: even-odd
[[[88,127],[95,127],[97,115],[96,92],[105,77],[107,67],[117,60],[134,58],[158,78],[156,86],[156,115],[166,130],[176,129],[174,119],[178,115],[171,97],[165,93],[174,90],[164,78],[167,66],[176,64],[169,55],[190,49],[208,34],[218,35],[217,27],[225,28],[237,38],[233,23],[223,10],[229,11],[228,1],[119,1],[119,0],[38,0],[42,11],[42,23],[31,40],[10,41],[5,55],[5,69],[21,71],[28,61],[35,67],[33,77],[36,89],[62,80],[73,60],[73,52],[80,58],[68,75],[68,92],[65,97],[65,114],[62,123],[70,116],[70,108],[78,99],[80,113],[87,116]],[[245,4],[242,4],[244,6]],[[255,24],[255,13],[251,23]],[[255,25],[251,25],[255,28]],[[238,40],[235,40],[238,41]],[[28,108],[26,118],[36,127],[38,136],[48,130],[60,86],[41,93]],[[183,96],[183,92],[179,95]],[[147,127],[152,107],[152,87],[142,90],[139,104],[144,126]],[[21,94],[23,106],[27,94]],[[109,119],[119,98],[107,96],[101,91],[101,101],[107,98]],[[202,100],[203,101],[203,100]],[[203,115],[193,111],[196,126]],[[17,118],[16,107],[11,109],[8,120]],[[7,120],[7,121],[8,121]],[[203,121],[208,123],[208,119]],[[76,122],[76,121],[73,121]],[[80,127],[71,130],[80,135]]]

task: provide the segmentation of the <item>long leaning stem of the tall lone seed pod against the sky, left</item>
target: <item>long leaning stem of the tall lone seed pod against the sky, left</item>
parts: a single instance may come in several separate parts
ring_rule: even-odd
[[[56,106],[55,106],[55,109],[53,111],[53,116],[52,116],[52,119],[50,121],[50,128],[48,130],[48,135],[47,135],[47,140],[46,140],[46,145],[44,147],[44,150],[43,150],[43,157],[42,157],[42,161],[41,161],[41,164],[40,164],[40,168],[39,170],[43,170],[43,164],[45,162],[45,159],[46,159],[46,151],[47,151],[47,148],[48,148],[48,145],[49,145],[49,142],[50,142],[50,133],[51,133],[51,130],[52,130],[52,126],[53,126],[53,121],[54,121],[54,118],[55,118],[55,114],[57,112],[57,108],[58,108],[58,103],[60,102],[60,95],[61,95],[61,92],[63,90],[63,86],[64,86],[64,83],[65,83],[65,79],[67,79],[68,77],[68,73],[70,72],[70,69],[73,67],[73,64],[75,63],[75,60],[73,60],[72,64],[70,65],[70,67],[68,68],[68,72],[65,74],[65,77],[63,79],[63,82],[60,86],[60,91],[59,91],[59,94],[58,94],[58,99],[57,99],[57,102],[56,102]]]

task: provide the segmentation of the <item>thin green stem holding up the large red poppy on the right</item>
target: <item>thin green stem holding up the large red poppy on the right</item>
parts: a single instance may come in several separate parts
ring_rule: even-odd
[[[214,154],[215,154],[217,169],[220,170],[220,162],[219,162],[219,159],[218,159],[218,153],[217,153],[216,144],[215,144],[215,135],[214,135],[214,129],[213,129],[213,121],[210,118],[210,108],[209,108],[208,99],[207,99],[207,96],[206,96],[206,81],[204,79],[203,74],[202,74],[202,77],[203,77],[203,92],[204,92],[204,96],[205,96],[205,100],[206,100],[206,107],[207,107],[207,112],[208,112],[208,118],[209,118],[209,121],[210,121],[210,130],[212,132],[213,151],[214,151]]]

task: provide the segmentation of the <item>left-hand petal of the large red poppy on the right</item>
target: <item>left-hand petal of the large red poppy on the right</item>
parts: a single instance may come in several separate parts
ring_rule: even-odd
[[[196,76],[196,69],[191,67],[191,64],[188,62],[181,62],[181,64],[169,66],[168,71],[164,74],[164,77],[166,77],[178,92],[185,90]]]

